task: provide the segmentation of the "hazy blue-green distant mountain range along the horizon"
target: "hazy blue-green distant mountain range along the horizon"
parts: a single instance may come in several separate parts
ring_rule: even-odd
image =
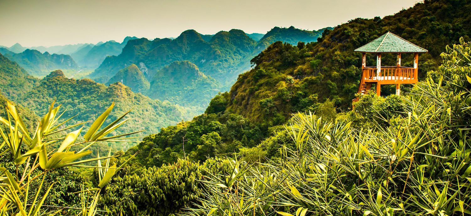
[[[293,45],[317,41],[325,29],[275,27],[267,34],[233,29],[214,35],[187,30],[175,39],[126,37],[121,43],[34,47],[38,50],[15,44],[0,47],[0,53],[36,77],[56,69],[96,68],[89,77],[99,83],[120,82],[133,92],[201,112],[214,95],[227,91],[239,74],[251,69],[251,59],[268,45],[278,40]]]

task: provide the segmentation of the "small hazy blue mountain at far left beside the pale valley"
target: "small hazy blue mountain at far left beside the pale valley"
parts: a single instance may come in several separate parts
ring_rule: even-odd
[[[56,69],[78,69],[79,66],[70,55],[49,54],[32,49],[26,49],[18,54],[5,54],[5,57],[18,63],[28,73],[35,77],[44,77]]]

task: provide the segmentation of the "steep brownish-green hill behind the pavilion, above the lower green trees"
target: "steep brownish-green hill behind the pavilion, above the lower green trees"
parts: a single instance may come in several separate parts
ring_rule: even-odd
[[[256,65],[239,77],[230,91],[227,110],[252,121],[271,121],[274,116],[304,111],[330,99],[345,110],[357,93],[361,54],[353,50],[391,31],[425,47],[419,56],[419,78],[439,65],[446,45],[460,37],[470,40],[471,15],[468,1],[426,1],[383,19],[357,18],[325,31],[319,42],[291,46],[277,42],[252,60]],[[376,59],[368,55],[367,65]],[[412,66],[412,54],[403,55],[403,65]],[[396,56],[385,55],[383,65],[395,65]],[[401,85],[406,88],[407,85]],[[383,85],[382,93],[395,86]],[[406,89],[404,89],[406,90]],[[280,116],[282,115],[282,116]]]

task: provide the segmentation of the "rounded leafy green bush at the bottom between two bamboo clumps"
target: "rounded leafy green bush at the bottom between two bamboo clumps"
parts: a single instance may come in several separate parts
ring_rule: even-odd
[[[141,170],[140,175],[114,178],[103,194],[103,208],[110,215],[168,216],[200,195],[198,163],[179,160],[160,168]]]

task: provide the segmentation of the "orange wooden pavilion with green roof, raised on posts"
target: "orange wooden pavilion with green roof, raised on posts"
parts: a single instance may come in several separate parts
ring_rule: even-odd
[[[381,37],[374,39],[365,46],[357,48],[355,52],[362,53],[361,70],[362,76],[359,94],[365,94],[371,88],[372,84],[376,84],[376,94],[381,95],[381,85],[396,85],[396,94],[400,93],[401,84],[417,83],[417,64],[419,53],[426,53],[428,50],[414,45],[413,43],[402,39],[401,37],[391,33],[383,34]],[[366,53],[376,54],[376,67],[366,67]],[[381,54],[395,53],[398,56],[396,66],[382,66]],[[414,67],[401,66],[401,54],[414,54]],[[353,101],[357,101],[358,98]]]

